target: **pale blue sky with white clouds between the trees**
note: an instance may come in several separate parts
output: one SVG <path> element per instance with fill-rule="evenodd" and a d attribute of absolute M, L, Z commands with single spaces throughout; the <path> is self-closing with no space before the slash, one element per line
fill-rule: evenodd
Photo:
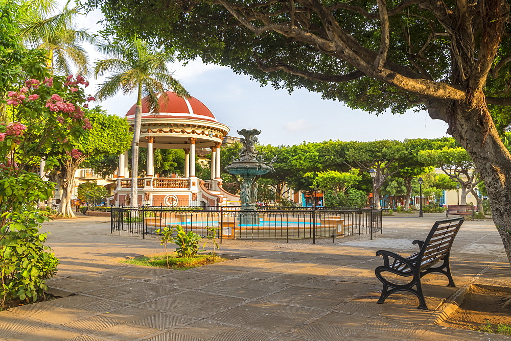
<path fill-rule="evenodd" d="M 101 29 L 97 22 L 102 18 L 101 12 L 96 10 L 79 16 L 77 26 L 97 32 Z M 93 46 L 86 46 L 86 50 L 91 61 L 102 58 Z M 237 75 L 228 67 L 204 64 L 200 60 L 191 61 L 186 66 L 174 63 L 170 69 L 192 96 L 230 128 L 229 136 L 238 136 L 236 131 L 243 128 L 257 128 L 262 131 L 259 136 L 262 144 L 447 136 L 444 121 L 431 119 L 426 111 L 410 111 L 404 115 L 387 112 L 376 116 L 350 109 L 338 101 L 324 101 L 319 93 L 305 89 L 289 95 L 287 90 L 261 87 L 258 82 Z M 87 94 L 94 94 L 103 80 L 90 77 L 88 80 Z M 135 102 L 135 94 L 125 96 L 119 93 L 99 105 L 111 114 L 124 116 Z"/>

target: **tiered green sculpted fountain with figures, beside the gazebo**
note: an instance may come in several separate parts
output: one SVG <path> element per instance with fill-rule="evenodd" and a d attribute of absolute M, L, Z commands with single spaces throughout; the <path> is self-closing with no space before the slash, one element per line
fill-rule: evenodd
<path fill-rule="evenodd" d="M 269 164 L 263 159 L 263 155 L 255 149 L 255 143 L 258 141 L 258 135 L 261 134 L 260 130 L 238 130 L 238 134 L 243 136 L 240 142 L 243 144 L 239 155 L 239 159 L 233 158 L 233 162 L 225 167 L 225 170 L 230 174 L 239 175 L 243 178 L 241 184 L 241 210 L 245 214 L 240 214 L 240 224 L 254 225 L 259 223 L 259 218 L 256 211 L 257 203 L 257 188 L 256 177 L 274 172 L 273 162 L 276 157 L 271 160 Z M 243 212 L 242 212 L 243 213 Z"/>

